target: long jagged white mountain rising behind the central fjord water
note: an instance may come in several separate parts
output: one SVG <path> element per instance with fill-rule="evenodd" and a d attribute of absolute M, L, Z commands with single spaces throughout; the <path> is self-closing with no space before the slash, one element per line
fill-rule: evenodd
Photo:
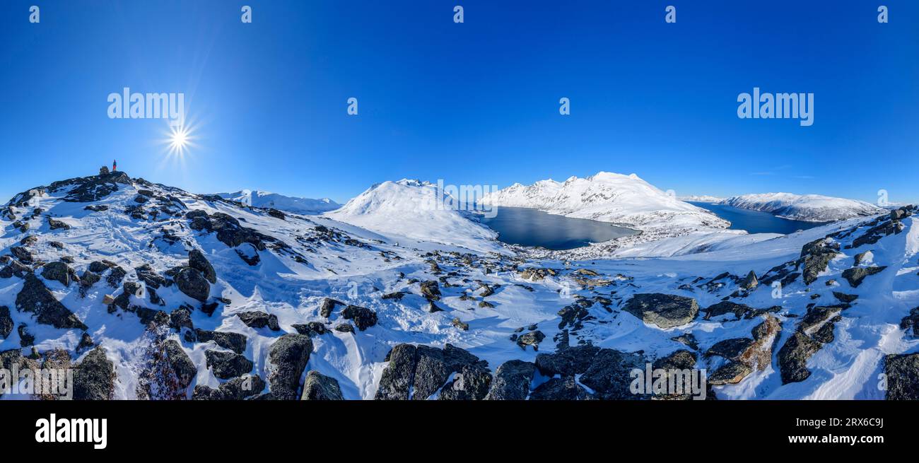
<path fill-rule="evenodd" d="M 540 209 L 550 214 L 624 224 L 641 231 L 666 230 L 675 235 L 730 226 L 708 210 L 668 195 L 635 174 L 600 172 L 587 178 L 573 176 L 564 182 L 514 184 L 485 195 L 482 203 Z"/>

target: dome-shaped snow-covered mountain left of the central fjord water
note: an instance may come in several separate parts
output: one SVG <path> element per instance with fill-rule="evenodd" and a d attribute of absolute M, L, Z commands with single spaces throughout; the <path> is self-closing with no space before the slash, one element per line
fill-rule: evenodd
<path fill-rule="evenodd" d="M 371 231 L 413 240 L 455 244 L 478 251 L 495 251 L 498 234 L 480 224 L 474 214 L 450 207 L 452 198 L 437 185 L 402 179 L 370 186 L 341 209 L 325 214 Z"/>

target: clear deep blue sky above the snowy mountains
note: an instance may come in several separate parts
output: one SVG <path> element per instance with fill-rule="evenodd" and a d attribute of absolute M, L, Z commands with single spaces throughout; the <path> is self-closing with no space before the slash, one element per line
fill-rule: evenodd
<path fill-rule="evenodd" d="M 601 170 L 679 195 L 919 200 L 914 1 L 6 0 L 0 36 L 4 200 L 113 158 L 195 192 L 337 201 Z M 125 86 L 185 93 L 195 147 L 167 157 L 163 120 L 108 119 Z M 813 93 L 813 125 L 738 119 L 754 86 Z"/>

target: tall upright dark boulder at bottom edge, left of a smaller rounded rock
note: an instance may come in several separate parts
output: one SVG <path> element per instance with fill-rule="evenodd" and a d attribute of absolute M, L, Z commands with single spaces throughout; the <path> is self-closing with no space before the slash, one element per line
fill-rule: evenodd
<path fill-rule="evenodd" d="M 303 334 L 285 334 L 271 345 L 268 354 L 270 374 L 268 384 L 274 398 L 283 401 L 298 399 L 300 377 L 312 353 L 310 336 Z"/>

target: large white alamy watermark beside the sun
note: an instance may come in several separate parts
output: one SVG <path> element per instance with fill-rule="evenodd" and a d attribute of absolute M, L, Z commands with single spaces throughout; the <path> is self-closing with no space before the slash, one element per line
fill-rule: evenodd
<path fill-rule="evenodd" d="M 131 93 L 124 87 L 121 93 L 108 94 L 108 119 L 169 119 L 169 125 L 185 125 L 184 93 Z"/>

